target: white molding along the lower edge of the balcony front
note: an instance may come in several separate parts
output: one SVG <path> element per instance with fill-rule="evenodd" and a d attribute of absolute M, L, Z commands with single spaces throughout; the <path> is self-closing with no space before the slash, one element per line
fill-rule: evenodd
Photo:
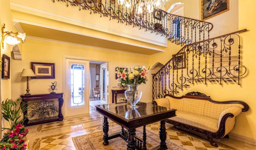
<path fill-rule="evenodd" d="M 89 34 L 84 34 L 84 33 L 76 32 L 76 31 L 65 30 L 65 29 L 62 29 L 62 28 L 46 26 L 46 25 L 43 25 L 43 24 L 32 23 L 32 22 L 29 22 L 29 21 L 18 20 L 18 19 L 13 19 L 12 21 L 14 22 L 14 24 L 25 23 L 25 24 L 30 24 L 30 25 L 34 25 L 34 26 L 50 28 L 50 29 L 59 30 L 59 31 L 65 31 L 65 32 L 69 32 L 69 33 L 74 33 L 74 34 L 79 34 L 79 35 L 83 35 L 83 36 L 94 37 L 94 38 L 103 39 L 103 40 L 109 40 L 109 41 L 112 41 L 112 42 L 123 43 L 123 44 L 127 44 L 127 45 L 132 45 L 132 46 L 137 46 L 137 47 L 142 47 L 142 48 L 147 48 L 147 49 L 152 49 L 152 50 L 155 50 L 155 51 L 163 52 L 162 49 L 158 49 L 158 48 L 152 48 L 152 47 L 138 45 L 138 44 L 133 44 L 133 43 L 128 43 L 128 42 L 120 42 L 118 40 L 112 40 L 112 39 L 107 39 L 107 38 L 103 38 L 103 37 L 99 37 L 99 36 L 93 36 L 93 35 L 89 35 Z M 116 51 L 119 51 L 119 50 L 116 50 Z M 135 53 L 135 54 L 139 54 L 139 53 Z"/>

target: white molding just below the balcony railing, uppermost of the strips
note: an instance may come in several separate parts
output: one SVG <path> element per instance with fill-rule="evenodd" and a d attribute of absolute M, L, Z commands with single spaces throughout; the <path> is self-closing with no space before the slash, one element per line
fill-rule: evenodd
<path fill-rule="evenodd" d="M 84 22 L 84 21 L 75 20 L 73 18 L 65 17 L 65 16 L 62 16 L 62 15 L 57 15 L 55 13 L 46 12 L 44 10 L 35 9 L 35 8 L 32 8 L 32 7 L 20 5 L 20 4 L 13 3 L 13 2 L 11 2 L 10 4 L 11 4 L 11 6 L 16 6 L 16 7 L 32 10 L 32 11 L 39 12 L 39 13 L 44 13 L 46 15 L 50 15 L 50 16 L 53 16 L 53 17 L 58 17 L 58 18 L 69 20 L 69 21 L 74 21 L 76 23 L 85 24 L 87 26 L 91 26 L 91 27 L 95 27 L 95 28 L 99 28 L 99 29 L 103 29 L 103 30 L 107 30 L 107 31 L 112 31 L 112 32 L 115 32 L 115 33 L 118 33 L 118 34 L 123 34 L 123 35 L 126 35 L 126 36 L 130 36 L 130 37 L 132 37 L 132 39 L 135 37 L 135 38 L 141 39 L 144 42 L 148 42 L 148 43 L 152 43 L 152 44 L 156 44 L 156 45 L 167 47 L 167 43 L 159 42 L 159 41 L 156 41 L 156 40 L 148 39 L 148 38 L 137 36 L 137 35 L 130 34 L 130 33 L 125 33 L 125 32 L 114 30 L 114 29 L 107 28 L 107 27 L 98 26 L 96 24 L 91 24 L 91 23 L 87 23 L 87 22 Z"/>

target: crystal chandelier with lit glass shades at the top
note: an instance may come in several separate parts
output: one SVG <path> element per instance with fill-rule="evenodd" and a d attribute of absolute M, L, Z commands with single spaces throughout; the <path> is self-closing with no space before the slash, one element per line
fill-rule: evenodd
<path fill-rule="evenodd" d="M 124 8 L 130 9 L 132 5 L 135 6 L 137 14 L 143 13 L 144 6 L 148 13 L 153 12 L 154 9 L 160 9 L 161 7 L 161 0 L 118 0 L 117 2 L 118 5 L 122 5 Z"/>

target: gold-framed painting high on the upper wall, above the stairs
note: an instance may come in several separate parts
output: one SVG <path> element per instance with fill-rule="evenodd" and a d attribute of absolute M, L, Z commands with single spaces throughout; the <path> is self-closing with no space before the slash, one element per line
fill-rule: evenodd
<path fill-rule="evenodd" d="M 229 10 L 229 0 L 201 0 L 202 20 L 207 20 Z"/>

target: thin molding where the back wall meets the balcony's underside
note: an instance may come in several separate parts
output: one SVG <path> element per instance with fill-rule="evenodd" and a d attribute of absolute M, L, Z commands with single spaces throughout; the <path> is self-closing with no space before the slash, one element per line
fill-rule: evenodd
<path fill-rule="evenodd" d="M 95 48 L 95 49 L 101 49 L 101 50 L 105 50 L 105 51 L 121 52 L 121 53 L 126 53 L 126 54 L 133 54 L 133 55 L 142 55 L 142 56 L 146 56 L 146 57 L 150 57 L 152 55 L 155 55 L 155 54 L 146 55 L 146 54 L 140 54 L 140 53 L 136 53 L 136 52 L 120 51 L 120 50 L 117 50 L 117 49 L 110 49 L 110 48 L 104 48 L 104 47 L 98 47 L 98 46 L 91 46 L 91 45 L 83 45 L 83 44 L 78 44 L 78 43 L 64 42 L 64 41 L 61 41 L 61 40 L 46 39 L 46 38 L 43 38 L 43 37 L 36 37 L 36 36 L 26 36 L 26 38 L 27 39 L 34 39 L 34 40 L 42 40 L 42 41 L 46 41 L 46 42 L 54 42 L 54 43 L 73 45 L 73 46 Z M 162 52 L 160 52 L 160 53 L 162 53 Z"/>

